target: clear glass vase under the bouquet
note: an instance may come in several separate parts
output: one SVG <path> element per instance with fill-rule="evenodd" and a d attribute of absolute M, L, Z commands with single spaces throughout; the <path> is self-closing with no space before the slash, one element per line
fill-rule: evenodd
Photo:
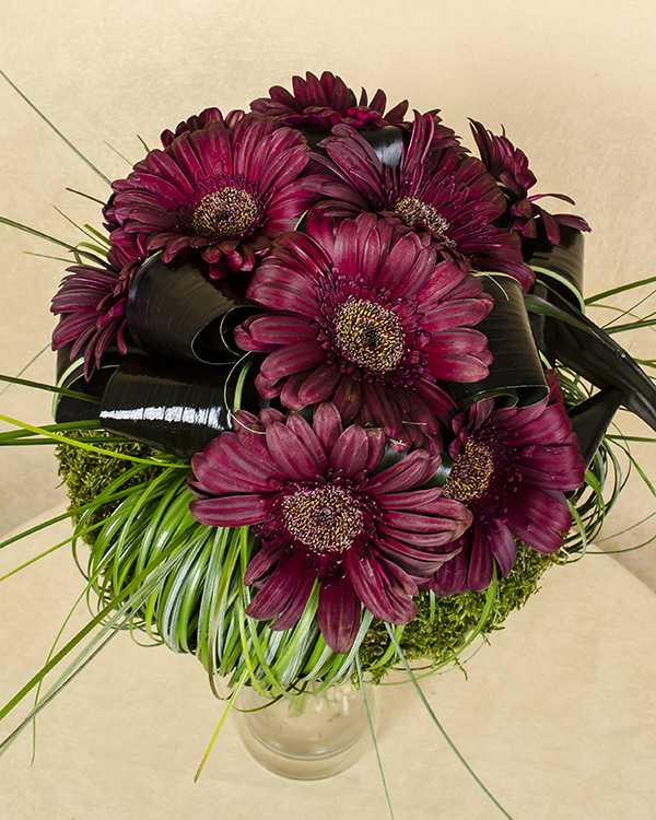
<path fill-rule="evenodd" d="M 238 729 L 248 752 L 271 772 L 294 780 L 331 777 L 373 745 L 362 692 L 350 682 L 278 701 L 245 687 L 236 701 Z M 374 721 L 373 687 L 366 702 Z"/>

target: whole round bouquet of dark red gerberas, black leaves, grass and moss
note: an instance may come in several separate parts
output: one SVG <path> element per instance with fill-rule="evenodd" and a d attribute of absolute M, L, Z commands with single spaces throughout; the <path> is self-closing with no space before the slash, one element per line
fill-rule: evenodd
<path fill-rule="evenodd" d="M 229 704 L 415 682 L 585 552 L 623 485 L 608 427 L 656 430 L 656 390 L 585 314 L 612 294 L 543 204 L 572 200 L 471 139 L 308 73 L 112 183 L 51 303 L 55 424 L 2 434 L 57 444 L 93 641 L 194 654 Z"/>

